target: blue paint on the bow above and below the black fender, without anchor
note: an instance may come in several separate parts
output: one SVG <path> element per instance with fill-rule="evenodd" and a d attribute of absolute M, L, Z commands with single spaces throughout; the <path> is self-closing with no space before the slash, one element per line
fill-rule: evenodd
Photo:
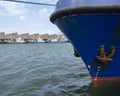
<path fill-rule="evenodd" d="M 120 0 L 59 0 L 56 11 L 111 4 L 118 5 Z M 98 77 L 120 77 L 120 14 L 73 14 L 57 18 L 54 23 L 77 49 L 92 77 L 96 77 L 98 71 L 93 63 L 98 48 L 104 45 L 108 53 L 111 46 L 116 46 L 113 61 L 99 69 Z"/>

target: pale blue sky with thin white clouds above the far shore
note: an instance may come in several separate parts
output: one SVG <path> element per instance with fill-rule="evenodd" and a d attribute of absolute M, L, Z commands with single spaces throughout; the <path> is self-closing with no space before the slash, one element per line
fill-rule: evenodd
<path fill-rule="evenodd" d="M 23 1 L 23 0 L 22 0 Z M 58 0 L 24 0 L 56 4 Z M 21 4 L 0 0 L 0 32 L 6 34 L 59 34 L 60 30 L 50 22 L 54 6 Z"/>

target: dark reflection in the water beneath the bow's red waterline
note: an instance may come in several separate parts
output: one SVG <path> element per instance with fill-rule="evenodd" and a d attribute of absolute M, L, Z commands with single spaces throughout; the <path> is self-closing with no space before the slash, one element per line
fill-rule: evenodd
<path fill-rule="evenodd" d="M 120 82 L 90 83 L 75 90 L 79 96 L 120 96 Z"/>

